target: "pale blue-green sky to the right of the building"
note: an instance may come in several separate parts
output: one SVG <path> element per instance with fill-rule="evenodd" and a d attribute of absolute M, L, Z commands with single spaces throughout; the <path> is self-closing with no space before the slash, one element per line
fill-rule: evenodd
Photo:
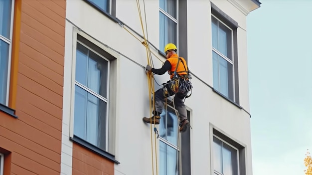
<path fill-rule="evenodd" d="M 247 17 L 253 175 L 305 175 L 312 150 L 312 0 Z"/>

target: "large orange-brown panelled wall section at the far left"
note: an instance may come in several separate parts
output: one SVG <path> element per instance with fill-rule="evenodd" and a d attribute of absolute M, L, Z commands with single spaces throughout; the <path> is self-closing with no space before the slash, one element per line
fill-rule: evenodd
<path fill-rule="evenodd" d="M 18 118 L 0 111 L 4 175 L 60 175 L 66 0 L 15 3 L 9 105 Z"/>

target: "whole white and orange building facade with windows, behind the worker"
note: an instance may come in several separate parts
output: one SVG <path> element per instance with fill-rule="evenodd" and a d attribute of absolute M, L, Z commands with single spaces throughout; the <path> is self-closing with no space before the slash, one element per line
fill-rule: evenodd
<path fill-rule="evenodd" d="M 246 16 L 258 7 L 0 0 L 0 175 L 252 175 Z M 156 130 L 142 121 L 145 66 L 161 67 L 168 42 L 194 87 L 182 134 L 172 98 Z M 169 79 L 154 77 L 152 91 Z"/>

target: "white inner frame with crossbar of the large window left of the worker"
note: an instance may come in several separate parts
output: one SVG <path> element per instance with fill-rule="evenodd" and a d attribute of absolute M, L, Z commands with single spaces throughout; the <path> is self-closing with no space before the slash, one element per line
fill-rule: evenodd
<path fill-rule="evenodd" d="M 94 95 L 96 98 L 98 98 L 99 100 L 102 100 L 104 102 L 106 102 L 107 106 L 106 106 L 106 118 L 105 118 L 105 149 L 104 151 L 108 151 L 108 127 L 109 127 L 109 96 L 110 96 L 110 60 L 105 58 L 105 56 L 103 56 L 102 54 L 98 53 L 97 51 L 95 51 L 94 49 L 92 49 L 91 47 L 89 47 L 88 45 L 84 44 L 82 41 L 78 40 L 76 41 L 77 43 L 81 44 L 82 46 L 86 47 L 89 51 L 94 52 L 95 54 L 97 54 L 98 56 L 100 56 L 102 59 L 106 60 L 107 63 L 107 97 L 103 97 L 100 94 L 94 92 L 93 90 L 89 89 L 88 87 L 86 87 L 85 85 L 79 83 L 76 79 L 75 79 L 75 86 L 78 86 L 80 88 L 82 88 L 83 90 L 85 90 L 87 93 L 90 93 L 91 95 Z M 76 43 L 76 45 L 77 45 Z M 76 51 L 77 51 L 77 46 L 75 47 Z M 89 56 L 88 56 L 89 58 Z M 76 56 L 75 56 L 75 63 L 76 63 Z M 76 66 L 76 64 L 75 64 Z M 76 74 L 75 74 L 76 77 Z M 75 90 L 74 90 L 75 91 Z M 75 97 L 74 97 L 74 101 L 75 101 Z M 75 103 L 75 102 L 74 102 Z M 75 104 L 73 105 L 75 106 Z M 73 126 L 75 127 L 75 126 Z M 75 135 L 75 134 L 74 134 Z M 76 136 L 78 137 L 78 136 Z M 82 138 L 81 138 L 82 139 Z M 84 139 L 82 139 L 84 140 Z M 86 141 L 87 142 L 87 141 Z"/>

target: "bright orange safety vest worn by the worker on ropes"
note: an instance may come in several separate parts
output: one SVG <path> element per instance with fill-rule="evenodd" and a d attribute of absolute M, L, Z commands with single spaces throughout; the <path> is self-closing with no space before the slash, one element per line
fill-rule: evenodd
<path fill-rule="evenodd" d="M 179 58 L 180 58 L 180 61 L 178 61 Z M 188 68 L 187 68 L 186 61 L 184 58 L 178 57 L 177 54 L 173 54 L 167 60 L 171 64 L 171 69 L 168 71 L 168 73 L 170 74 L 170 79 L 173 78 L 175 69 L 176 69 L 176 75 L 177 76 L 187 75 Z M 183 66 L 183 64 L 184 64 L 184 66 Z M 178 66 L 178 67 L 176 68 L 176 66 Z"/>

